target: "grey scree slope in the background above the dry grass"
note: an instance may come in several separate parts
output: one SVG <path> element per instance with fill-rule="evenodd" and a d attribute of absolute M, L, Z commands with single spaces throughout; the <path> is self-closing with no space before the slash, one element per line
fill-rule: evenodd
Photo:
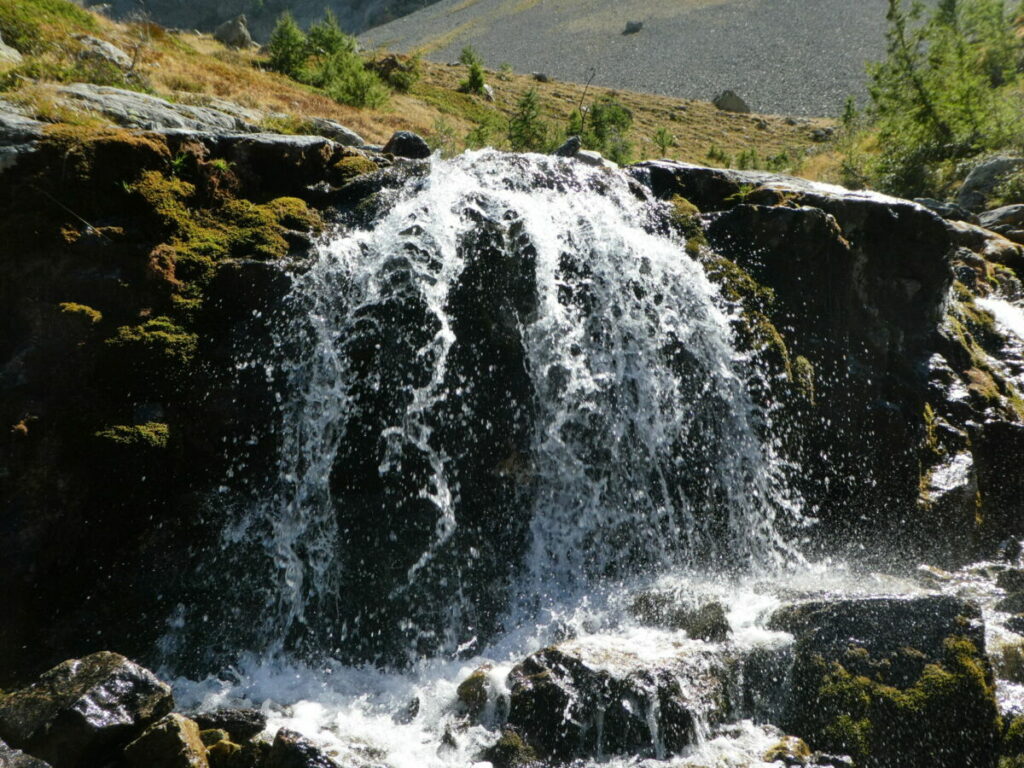
<path fill-rule="evenodd" d="M 886 0 L 441 0 L 365 33 L 367 47 L 497 67 L 756 112 L 835 115 L 885 53 Z M 643 29 L 625 35 L 627 22 Z"/>

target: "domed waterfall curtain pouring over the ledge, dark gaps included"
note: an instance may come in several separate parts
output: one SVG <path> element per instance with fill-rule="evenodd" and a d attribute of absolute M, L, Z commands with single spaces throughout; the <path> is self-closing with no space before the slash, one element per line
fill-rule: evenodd
<path fill-rule="evenodd" d="M 664 204 L 494 152 L 378 198 L 295 276 L 260 362 L 284 382 L 281 473 L 225 534 L 258 543 L 264 599 L 236 633 L 243 695 L 281 696 L 288 659 L 330 664 L 365 720 L 425 699 L 425 678 L 451 698 L 459 658 L 497 676 L 559 627 L 613 623 L 624 584 L 799 559 L 761 374 Z M 413 667 L 339 688 L 332 658 Z"/>

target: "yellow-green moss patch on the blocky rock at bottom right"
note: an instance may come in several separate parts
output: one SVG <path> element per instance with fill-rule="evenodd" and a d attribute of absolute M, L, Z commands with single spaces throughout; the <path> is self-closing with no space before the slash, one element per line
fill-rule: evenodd
<path fill-rule="evenodd" d="M 993 755 L 1000 730 L 995 688 L 966 638 L 946 638 L 939 663 L 909 651 L 895 660 L 860 651 L 843 664 L 818 662 L 815 703 L 799 724 L 815 749 L 869 768 L 985 765 Z"/>

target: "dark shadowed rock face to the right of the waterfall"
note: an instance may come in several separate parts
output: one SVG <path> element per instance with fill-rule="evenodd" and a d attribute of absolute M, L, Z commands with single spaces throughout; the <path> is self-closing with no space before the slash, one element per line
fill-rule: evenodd
<path fill-rule="evenodd" d="M 748 284 L 729 295 L 777 332 L 748 323 L 755 345 L 812 385 L 793 403 L 785 439 L 809 480 L 805 501 L 821 511 L 824 547 L 847 539 L 873 549 L 896 537 L 965 562 L 1011 535 L 1017 504 L 996 484 L 972 490 L 982 449 L 969 430 L 1021 419 L 1013 377 L 991 361 L 1009 341 L 972 293 L 990 290 L 991 262 L 1024 264 L 1014 244 L 908 201 L 766 173 L 663 162 L 633 172 L 706 212 L 701 231 L 727 262 L 710 256 L 710 270 L 727 290 L 732 273 L 770 292 L 752 299 Z M 998 274 L 1012 292 L 1014 273 Z M 970 463 L 957 464 L 965 451 Z M 943 499 L 930 495 L 933 481 Z M 934 536 L 941 526 L 958 532 Z"/>

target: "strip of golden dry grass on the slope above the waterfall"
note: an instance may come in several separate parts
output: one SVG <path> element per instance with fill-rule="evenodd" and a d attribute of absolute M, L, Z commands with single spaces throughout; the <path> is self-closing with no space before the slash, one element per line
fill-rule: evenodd
<path fill-rule="evenodd" d="M 4 1 L 11 2 L 0 0 Z M 453 148 L 458 150 L 469 131 L 484 124 L 490 128 L 492 140 L 500 145 L 516 102 L 528 89 L 536 88 L 544 119 L 556 133 L 564 131 L 569 114 L 581 100 L 589 103 L 604 95 L 620 100 L 634 115 L 632 139 L 638 159 L 659 154 L 652 137 L 665 128 L 677 142 L 668 152 L 673 159 L 707 163 L 713 148 L 732 157 L 756 150 L 760 158 L 784 153 L 794 161 L 793 170 L 812 177 L 834 175 L 838 168 L 836 157 L 821 153 L 823 147 L 811 139 L 811 131 L 828 121 L 734 115 L 703 101 L 599 87 L 589 88 L 585 95 L 580 84 L 539 83 L 528 75 L 499 76 L 494 71 L 487 72 L 487 82 L 495 90 L 495 101 L 487 102 L 458 92 L 459 83 L 466 77 L 464 67 L 431 61 L 422 62 L 423 78 L 412 92 L 395 93 L 384 110 L 362 110 L 337 103 L 315 89 L 264 71 L 257 51 L 227 50 L 208 35 L 177 34 L 153 24 L 120 24 L 96 14 L 90 16 L 93 34 L 135 55 L 138 73 L 157 95 L 189 102 L 223 98 L 264 115 L 324 117 L 350 127 L 372 143 L 382 143 L 395 130 L 404 129 L 428 137 L 444 132 L 454 137 Z M 65 19 L 60 20 L 61 34 L 70 32 L 63 29 Z M 46 55 L 70 53 L 57 50 Z M 32 84 L 18 86 L 13 95 L 20 93 L 25 102 L 34 103 L 37 114 L 50 121 L 93 119 L 62 114 L 56 104 L 43 98 L 44 92 Z"/>

